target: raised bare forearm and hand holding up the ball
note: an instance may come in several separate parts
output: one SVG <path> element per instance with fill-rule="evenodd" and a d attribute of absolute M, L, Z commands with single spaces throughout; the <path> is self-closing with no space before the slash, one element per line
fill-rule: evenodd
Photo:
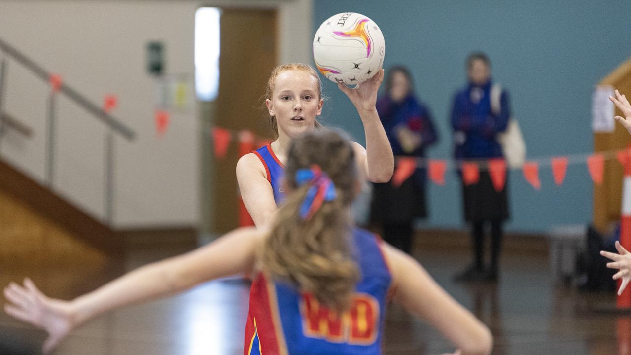
<path fill-rule="evenodd" d="M 349 88 L 339 83 L 339 90 L 353 102 L 362 119 L 364 134 L 366 135 L 365 153 L 358 155 L 357 159 L 365 172 L 365 176 L 373 183 L 387 183 L 394 172 L 394 155 L 390 141 L 384 130 L 384 126 L 377 114 L 377 90 L 384 80 L 384 69 L 380 69 L 369 80 L 358 84 L 355 88 Z M 355 150 L 360 153 L 360 150 Z"/>

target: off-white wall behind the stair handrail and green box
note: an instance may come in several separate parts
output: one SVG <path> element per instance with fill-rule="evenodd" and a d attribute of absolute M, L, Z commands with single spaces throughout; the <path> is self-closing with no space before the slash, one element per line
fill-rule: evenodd
<path fill-rule="evenodd" d="M 0 39 L 100 104 L 119 96 L 113 112 L 136 131 L 116 138 L 114 226 L 197 226 L 199 223 L 199 119 L 196 105 L 171 112 L 156 137 L 155 78 L 146 72 L 146 45 L 165 47 L 165 73 L 191 78 L 194 97 L 194 13 L 199 6 L 277 8 L 281 62 L 310 61 L 311 0 L 78 1 L 0 0 Z M 3 54 L 0 52 L 0 56 Z M 34 130 L 13 133 L 0 155 L 38 181 L 45 176 L 47 83 L 9 59 L 4 110 Z M 194 101 L 194 100 L 193 100 Z M 71 202 L 103 218 L 104 124 L 68 99 L 57 100 L 54 186 Z"/>

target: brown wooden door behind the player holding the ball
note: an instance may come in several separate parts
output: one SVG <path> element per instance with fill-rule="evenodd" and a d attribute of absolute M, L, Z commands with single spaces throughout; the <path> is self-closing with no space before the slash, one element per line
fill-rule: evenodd
<path fill-rule="evenodd" d="M 249 129 L 257 136 L 271 136 L 260 99 L 275 65 L 276 11 L 223 9 L 215 126 L 233 131 Z M 212 229 L 215 232 L 230 231 L 239 221 L 236 139 L 233 137 L 227 156 L 214 164 Z"/>

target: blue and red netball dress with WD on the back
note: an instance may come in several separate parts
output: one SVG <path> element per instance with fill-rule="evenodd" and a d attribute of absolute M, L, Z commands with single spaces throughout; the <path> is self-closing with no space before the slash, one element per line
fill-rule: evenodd
<path fill-rule="evenodd" d="M 392 276 L 380 239 L 353 230 L 362 279 L 343 315 L 265 272 L 254 278 L 245 326 L 245 355 L 378 355 Z"/>

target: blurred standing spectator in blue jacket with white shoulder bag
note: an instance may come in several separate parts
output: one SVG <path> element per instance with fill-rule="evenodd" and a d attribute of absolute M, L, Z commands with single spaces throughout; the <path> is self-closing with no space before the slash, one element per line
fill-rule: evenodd
<path fill-rule="evenodd" d="M 486 160 L 503 158 L 498 133 L 505 131 L 510 116 L 508 93 L 500 95 L 500 110 L 492 110 L 491 63 L 483 53 L 473 53 L 466 61 L 469 83 L 456 93 L 451 111 L 454 129 L 454 155 L 457 160 Z M 462 177 L 462 174 L 461 174 Z M 506 181 L 508 183 L 508 181 Z M 497 281 L 498 263 L 502 248 L 502 223 L 509 219 L 507 184 L 496 191 L 486 169 L 481 169 L 480 179 L 466 186 L 463 181 L 464 219 L 471 224 L 474 261 L 459 281 Z M 490 263 L 484 262 L 485 224 L 491 227 Z"/>

